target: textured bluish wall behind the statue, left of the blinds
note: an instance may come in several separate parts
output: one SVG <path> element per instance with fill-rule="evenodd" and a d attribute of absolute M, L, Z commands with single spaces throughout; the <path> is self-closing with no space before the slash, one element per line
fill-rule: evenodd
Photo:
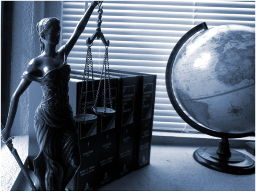
<path fill-rule="evenodd" d="M 10 95 L 19 85 L 21 75 L 30 60 L 41 54 L 36 24 L 45 17 L 57 17 L 62 20 L 62 1 L 14 1 Z M 33 87 L 37 87 L 37 90 Z M 37 101 L 40 102 L 41 91 L 38 87 L 33 82 L 20 97 L 12 135 L 28 133 L 28 129 L 33 130 L 35 110 L 30 111 L 29 106 L 36 99 L 34 93 L 37 94 Z"/>

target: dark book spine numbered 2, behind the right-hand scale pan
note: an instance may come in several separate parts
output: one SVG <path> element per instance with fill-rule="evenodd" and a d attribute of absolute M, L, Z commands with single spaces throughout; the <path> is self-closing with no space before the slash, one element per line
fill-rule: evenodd
<path fill-rule="evenodd" d="M 111 100 L 113 109 L 116 110 L 117 78 L 110 79 Z M 107 83 L 108 85 L 108 83 Z M 101 84 L 99 107 L 103 107 L 103 82 Z M 106 107 L 110 108 L 109 89 L 106 89 Z M 116 166 L 116 114 L 110 116 L 98 115 L 98 174 L 97 188 L 114 180 Z"/>

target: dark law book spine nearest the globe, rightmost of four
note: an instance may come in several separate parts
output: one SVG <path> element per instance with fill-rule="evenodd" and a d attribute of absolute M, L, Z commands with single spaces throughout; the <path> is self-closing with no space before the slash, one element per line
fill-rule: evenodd
<path fill-rule="evenodd" d="M 154 103 L 156 96 L 156 75 L 139 76 L 140 91 L 136 114 L 135 168 L 150 164 L 151 137 L 153 128 Z"/>

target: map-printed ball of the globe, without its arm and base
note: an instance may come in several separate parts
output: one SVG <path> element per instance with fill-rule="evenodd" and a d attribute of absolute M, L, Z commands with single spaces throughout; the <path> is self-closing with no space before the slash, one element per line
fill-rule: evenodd
<path fill-rule="evenodd" d="M 172 86 L 183 111 L 204 127 L 255 131 L 255 29 L 223 25 L 193 35 L 176 55 Z"/>

